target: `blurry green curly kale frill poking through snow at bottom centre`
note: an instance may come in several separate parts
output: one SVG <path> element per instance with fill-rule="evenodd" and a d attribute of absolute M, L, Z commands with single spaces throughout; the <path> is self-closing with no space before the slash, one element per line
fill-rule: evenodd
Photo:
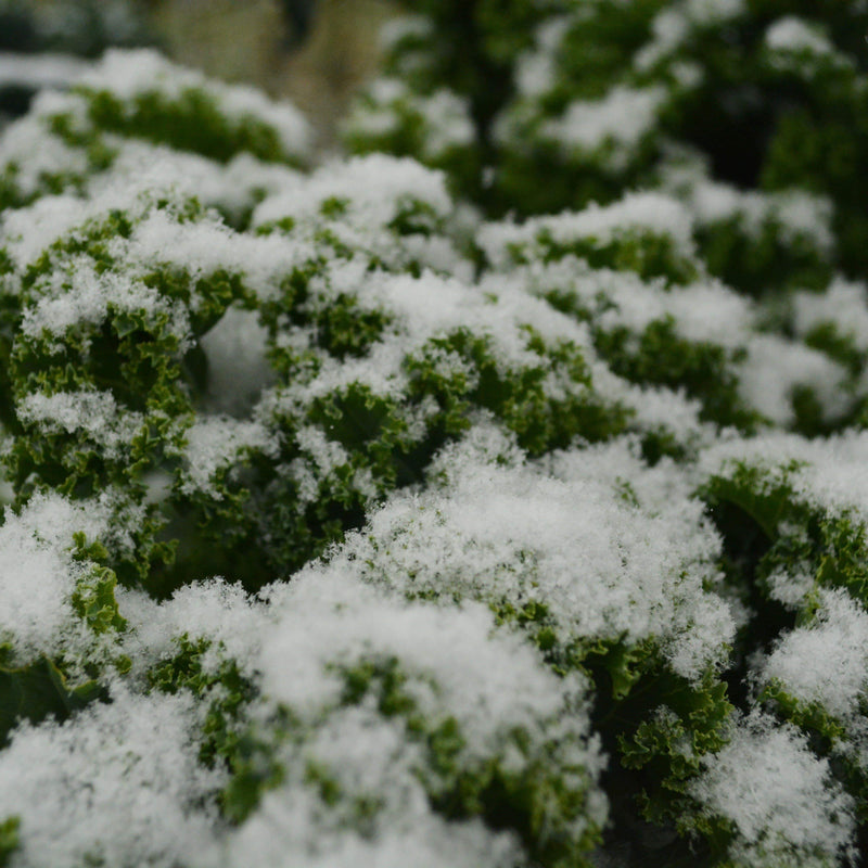
<path fill-rule="evenodd" d="M 324 710 L 340 714 L 354 706 L 365 707 L 383 720 L 395 720 L 410 744 L 419 749 L 414 774 L 427 792 L 431 807 L 449 820 L 480 818 L 492 829 L 512 829 L 532 857 L 552 866 L 586 865 L 584 854 L 597 840 L 588 829 L 579 840 L 567 833 L 571 820 L 585 808 L 587 793 L 579 768 L 552 768 L 545 751 L 538 754 L 527 732 L 516 729 L 506 736 L 500 752 L 488 758 L 469 762 L 461 725 L 455 717 L 431 719 L 423 714 L 408 685 L 398 660 L 371 658 L 353 664 L 333 664 L 343 682 L 337 707 Z M 432 685 L 436 690 L 436 685 Z M 306 728 L 292 709 L 281 707 L 272 722 L 278 745 L 257 744 L 254 733 L 242 739 L 245 756 L 237 766 L 224 800 L 229 816 L 243 819 L 269 789 L 279 786 L 286 770 L 275 755 L 294 756 L 303 749 Z M 277 748 L 277 750 L 276 750 Z M 558 746 L 552 743 L 552 751 Z M 518 752 L 525 761 L 509 766 L 503 753 Z M 528 755 L 535 751 L 533 755 Z M 340 809 L 346 821 L 365 835 L 373 834 L 381 805 L 368 796 L 344 792 L 328 768 L 306 761 L 305 784 L 314 789 L 324 805 Z"/>

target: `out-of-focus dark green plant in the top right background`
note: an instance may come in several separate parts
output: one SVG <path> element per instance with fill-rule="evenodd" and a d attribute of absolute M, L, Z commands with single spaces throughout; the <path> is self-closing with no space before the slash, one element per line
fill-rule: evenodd
<path fill-rule="evenodd" d="M 868 16 L 858 4 L 752 2 L 743 11 L 716 13 L 661 0 L 593 0 L 500 4 L 496 16 L 484 2 L 461 4 L 460 11 L 452 4 L 407 5 L 426 16 L 426 24 L 391 48 L 387 72 L 408 88 L 396 106 L 443 87 L 470 99 L 483 153 L 480 168 L 487 175 L 475 183 L 462 177 L 455 187 L 490 215 L 611 202 L 628 190 L 666 182 L 667 169 L 693 154 L 713 180 L 739 190 L 801 188 L 828 196 L 840 263 L 852 275 L 866 273 L 859 203 L 866 197 L 860 167 L 868 154 L 863 105 L 868 67 L 854 35 L 868 29 Z M 666 15 L 671 20 L 658 28 Z M 799 16 L 828 39 L 831 53 L 786 43 L 769 48 L 767 33 L 788 16 Z M 489 30 L 495 20 L 497 29 Z M 684 36 L 655 42 L 658 30 L 678 28 Z M 524 92 L 516 90 L 516 78 L 528 51 L 550 73 Z M 611 137 L 592 148 L 559 139 L 553 129 L 571 106 L 602 105 L 618 89 L 660 95 L 649 128 L 626 150 Z M 397 107 L 393 114 L 393 132 L 381 139 L 355 141 L 352 126 L 354 146 L 394 149 L 430 162 L 419 122 L 413 125 Z M 745 232 L 739 219 L 704 224 L 697 239 L 712 273 L 746 293 L 765 295 L 784 284 L 821 286 L 839 261 L 834 251 L 817 248 L 812 238 L 793 235 L 775 218 L 758 234 Z"/>

